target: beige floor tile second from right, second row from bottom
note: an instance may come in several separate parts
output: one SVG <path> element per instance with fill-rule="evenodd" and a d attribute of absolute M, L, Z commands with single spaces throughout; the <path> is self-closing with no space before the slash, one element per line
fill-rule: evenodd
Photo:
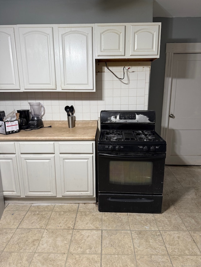
<path fill-rule="evenodd" d="M 187 231 L 161 231 L 169 255 L 200 255 L 193 238 Z"/>

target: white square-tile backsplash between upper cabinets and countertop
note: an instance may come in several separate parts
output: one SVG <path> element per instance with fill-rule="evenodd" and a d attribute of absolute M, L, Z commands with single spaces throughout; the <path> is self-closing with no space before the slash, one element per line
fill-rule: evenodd
<path fill-rule="evenodd" d="M 76 120 L 98 120 L 101 110 L 147 110 L 150 62 L 96 63 L 96 92 L 0 92 L 0 110 L 30 109 L 28 102 L 41 102 L 43 120 L 67 120 L 66 105 L 74 106 Z"/>

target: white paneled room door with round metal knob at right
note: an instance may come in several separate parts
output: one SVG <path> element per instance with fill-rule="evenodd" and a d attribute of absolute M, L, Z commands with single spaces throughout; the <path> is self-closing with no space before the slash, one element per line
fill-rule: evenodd
<path fill-rule="evenodd" d="M 173 54 L 166 164 L 201 165 L 201 54 Z"/>

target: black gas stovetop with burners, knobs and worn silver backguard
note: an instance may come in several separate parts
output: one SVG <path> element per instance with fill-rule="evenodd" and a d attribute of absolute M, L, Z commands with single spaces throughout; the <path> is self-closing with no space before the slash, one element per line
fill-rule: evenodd
<path fill-rule="evenodd" d="M 98 151 L 165 152 L 155 111 L 101 111 Z"/>

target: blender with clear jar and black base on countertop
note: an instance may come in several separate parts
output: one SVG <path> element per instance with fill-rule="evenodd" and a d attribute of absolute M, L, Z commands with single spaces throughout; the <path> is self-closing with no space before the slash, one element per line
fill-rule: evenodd
<path fill-rule="evenodd" d="M 29 105 L 31 110 L 29 129 L 40 129 L 41 127 L 43 127 L 41 114 L 44 110 L 44 106 L 40 102 L 29 102 Z"/>

